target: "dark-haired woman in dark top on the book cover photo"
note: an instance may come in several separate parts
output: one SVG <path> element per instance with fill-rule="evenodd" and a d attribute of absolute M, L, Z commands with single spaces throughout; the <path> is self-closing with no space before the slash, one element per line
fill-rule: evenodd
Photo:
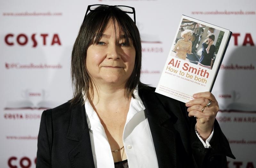
<path fill-rule="evenodd" d="M 202 55 L 197 65 L 212 69 L 211 63 L 215 52 L 215 45 L 213 45 L 214 40 L 215 36 L 212 33 L 206 37 L 206 40 L 202 44 Z"/>

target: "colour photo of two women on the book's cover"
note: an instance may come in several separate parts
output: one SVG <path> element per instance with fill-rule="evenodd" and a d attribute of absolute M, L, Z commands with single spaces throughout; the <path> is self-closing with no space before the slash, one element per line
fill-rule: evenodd
<path fill-rule="evenodd" d="M 170 55 L 212 69 L 223 35 L 224 31 L 183 19 Z"/>

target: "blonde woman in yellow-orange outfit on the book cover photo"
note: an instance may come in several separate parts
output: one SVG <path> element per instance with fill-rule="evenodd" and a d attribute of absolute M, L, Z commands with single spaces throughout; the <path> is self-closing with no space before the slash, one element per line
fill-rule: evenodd
<path fill-rule="evenodd" d="M 192 37 L 192 30 L 184 30 L 181 32 L 181 37 L 183 39 L 180 39 L 175 44 L 173 51 L 177 52 L 176 56 L 182 60 L 186 60 L 187 53 L 191 54 L 192 50 L 192 42 L 189 41 Z"/>

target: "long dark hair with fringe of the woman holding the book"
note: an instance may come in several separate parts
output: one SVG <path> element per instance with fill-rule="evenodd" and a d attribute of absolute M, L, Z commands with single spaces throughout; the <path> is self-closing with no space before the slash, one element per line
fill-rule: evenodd
<path fill-rule="evenodd" d="M 83 104 L 83 97 L 90 96 L 89 89 L 92 91 L 93 81 L 86 68 L 87 49 L 91 44 L 98 42 L 110 20 L 113 20 L 115 31 L 116 26 L 118 26 L 120 31 L 124 33 L 126 43 L 129 43 L 129 39 L 132 40 L 136 51 L 134 69 L 125 85 L 124 96 L 134 97 L 133 91 L 140 83 L 141 41 L 139 30 L 125 12 L 118 8 L 104 9 L 106 7 L 100 6 L 97 10 L 89 12 L 77 35 L 71 58 L 71 78 L 74 92 L 73 99 L 70 100 L 72 104 Z M 94 94 L 93 91 L 92 94 Z"/>

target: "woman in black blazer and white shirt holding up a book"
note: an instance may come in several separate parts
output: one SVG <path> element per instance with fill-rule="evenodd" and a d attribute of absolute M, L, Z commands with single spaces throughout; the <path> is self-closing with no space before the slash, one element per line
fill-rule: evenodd
<path fill-rule="evenodd" d="M 214 96 L 197 93 L 186 108 L 141 84 L 135 16 L 92 7 L 72 52 L 74 97 L 43 112 L 36 167 L 225 167 L 234 156 Z"/>

